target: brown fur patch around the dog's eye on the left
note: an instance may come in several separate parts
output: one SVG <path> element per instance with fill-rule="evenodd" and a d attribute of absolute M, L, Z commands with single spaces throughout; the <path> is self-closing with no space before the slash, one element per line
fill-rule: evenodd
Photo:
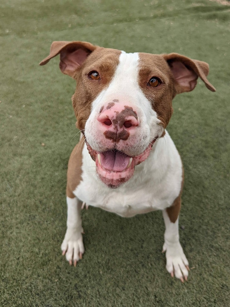
<path fill-rule="evenodd" d="M 74 78 L 77 81 L 77 87 L 72 96 L 72 103 L 78 120 L 77 126 L 80 130 L 85 128 L 92 102 L 111 82 L 119 63 L 120 54 L 119 50 L 98 47 L 76 70 Z M 101 76 L 99 80 L 89 78 L 89 73 L 93 70 Z"/>

